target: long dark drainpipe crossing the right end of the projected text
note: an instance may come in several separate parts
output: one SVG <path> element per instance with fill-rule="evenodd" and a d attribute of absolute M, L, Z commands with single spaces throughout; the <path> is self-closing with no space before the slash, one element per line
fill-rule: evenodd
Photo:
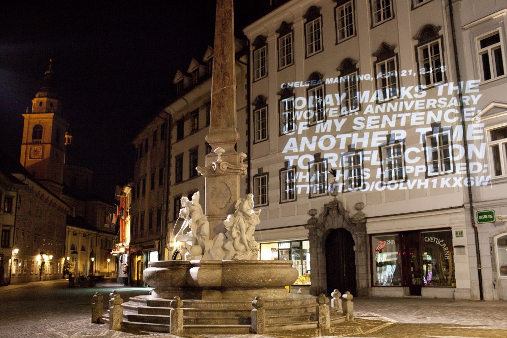
<path fill-rule="evenodd" d="M 449 17 L 451 20 L 451 32 L 452 32 L 452 47 L 454 49 L 454 63 L 456 64 L 456 80 L 458 82 L 458 96 L 459 96 L 459 109 L 461 114 L 461 127 L 463 128 L 463 147 L 465 149 L 465 164 L 466 164 L 466 177 L 470 181 L 470 159 L 468 158 L 468 140 L 466 138 L 466 124 L 465 124 L 465 113 L 463 109 L 463 95 L 461 92 L 461 76 L 459 72 L 459 60 L 457 54 L 456 44 L 456 31 L 454 29 L 454 13 L 452 10 L 452 0 L 448 0 L 449 4 Z M 474 228 L 475 247 L 477 256 L 477 275 L 479 277 L 479 297 L 484 300 L 484 292 L 482 285 L 482 266 L 481 266 L 481 248 L 479 247 L 479 232 L 474 217 L 474 200 L 472 197 L 472 186 L 468 184 L 468 202 L 470 203 L 470 222 L 472 222 L 472 228 Z"/>

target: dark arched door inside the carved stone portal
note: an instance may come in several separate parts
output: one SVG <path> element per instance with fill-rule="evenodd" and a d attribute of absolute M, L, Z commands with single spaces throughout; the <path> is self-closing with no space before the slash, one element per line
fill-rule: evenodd
<path fill-rule="evenodd" d="M 328 294 L 334 289 L 356 295 L 354 239 L 345 229 L 332 230 L 325 240 Z"/>

